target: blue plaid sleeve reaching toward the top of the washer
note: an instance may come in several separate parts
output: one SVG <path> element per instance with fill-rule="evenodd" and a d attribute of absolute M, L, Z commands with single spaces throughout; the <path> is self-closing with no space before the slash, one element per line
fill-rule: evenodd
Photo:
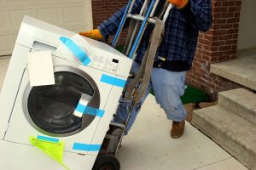
<path fill-rule="evenodd" d="M 143 7 L 143 0 L 136 0 L 134 6 L 131 10 L 131 14 L 139 14 L 141 8 Z M 125 7 L 120 8 L 119 11 L 113 14 L 108 20 L 105 20 L 100 26 L 97 27 L 101 31 L 102 36 L 105 40 L 108 40 L 110 35 L 113 35 L 119 28 L 119 24 L 122 20 L 123 15 L 125 14 Z M 128 26 L 126 21 L 125 27 Z"/>

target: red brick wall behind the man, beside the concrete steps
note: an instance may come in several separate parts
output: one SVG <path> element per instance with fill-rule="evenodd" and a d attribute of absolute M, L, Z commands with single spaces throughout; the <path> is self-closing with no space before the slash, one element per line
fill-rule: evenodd
<path fill-rule="evenodd" d="M 210 65 L 236 59 L 241 0 L 212 0 L 212 27 L 200 33 L 195 61 L 187 82 L 214 98 L 217 92 L 240 87 L 210 72 Z"/>

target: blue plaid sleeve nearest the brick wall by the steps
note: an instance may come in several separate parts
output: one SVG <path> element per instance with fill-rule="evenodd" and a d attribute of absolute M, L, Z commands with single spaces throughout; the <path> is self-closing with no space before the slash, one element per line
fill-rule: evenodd
<path fill-rule="evenodd" d="M 189 0 L 180 12 L 184 19 L 199 31 L 207 31 L 212 26 L 211 0 Z"/>

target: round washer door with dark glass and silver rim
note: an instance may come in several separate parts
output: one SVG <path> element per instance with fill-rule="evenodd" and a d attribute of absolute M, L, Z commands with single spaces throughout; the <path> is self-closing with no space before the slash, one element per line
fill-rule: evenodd
<path fill-rule="evenodd" d="M 70 136 L 88 127 L 96 116 L 74 116 L 82 95 L 90 96 L 88 106 L 100 106 L 96 82 L 84 71 L 55 67 L 55 85 L 27 87 L 26 117 L 33 127 L 52 136 Z"/>

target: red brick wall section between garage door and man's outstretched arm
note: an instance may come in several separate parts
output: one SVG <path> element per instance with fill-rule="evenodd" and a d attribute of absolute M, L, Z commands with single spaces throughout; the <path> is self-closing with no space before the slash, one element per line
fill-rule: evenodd
<path fill-rule="evenodd" d="M 96 28 L 104 20 L 107 20 L 112 14 L 117 12 L 119 8 L 124 7 L 128 1 L 127 0 L 91 0 L 92 3 L 92 16 L 93 16 L 93 26 Z M 125 35 L 127 31 L 123 31 L 121 38 L 119 39 L 120 44 L 125 43 Z M 109 39 L 109 42 L 111 42 Z"/>

